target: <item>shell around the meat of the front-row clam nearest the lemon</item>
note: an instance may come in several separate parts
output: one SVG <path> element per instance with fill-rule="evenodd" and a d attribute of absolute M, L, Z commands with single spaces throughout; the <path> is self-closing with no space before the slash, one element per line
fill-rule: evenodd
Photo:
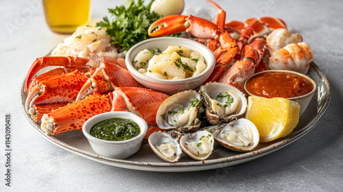
<path fill-rule="evenodd" d="M 241 146 L 233 145 L 233 143 L 228 143 L 227 141 L 220 139 L 220 134 L 222 134 L 224 130 L 228 128 L 229 126 L 242 128 L 244 125 L 248 125 L 248 129 L 250 129 L 250 133 L 251 133 L 250 136 L 252 136 L 252 139 L 250 139 L 252 141 L 250 145 L 241 147 Z M 215 138 L 215 141 L 217 141 L 217 143 L 226 147 L 227 149 L 231 149 L 236 152 L 252 151 L 259 144 L 259 131 L 257 130 L 255 124 L 249 121 L 248 119 L 243 119 L 243 118 L 238 119 L 237 121 L 231 121 L 230 123 L 227 123 L 226 125 L 224 125 L 222 128 L 215 130 L 213 132 L 213 136 Z"/>

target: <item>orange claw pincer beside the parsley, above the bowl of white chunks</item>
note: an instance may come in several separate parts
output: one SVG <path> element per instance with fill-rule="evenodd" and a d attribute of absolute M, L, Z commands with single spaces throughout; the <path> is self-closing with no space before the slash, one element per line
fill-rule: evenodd
<path fill-rule="evenodd" d="M 150 25 L 149 29 L 147 29 L 148 34 L 152 37 L 158 37 L 185 32 L 189 27 L 185 24 L 186 19 L 187 16 L 180 14 L 165 16 Z"/>

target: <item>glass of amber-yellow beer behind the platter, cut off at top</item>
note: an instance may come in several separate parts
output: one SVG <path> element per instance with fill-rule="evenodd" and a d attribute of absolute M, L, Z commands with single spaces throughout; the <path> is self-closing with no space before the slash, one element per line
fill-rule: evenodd
<path fill-rule="evenodd" d="M 90 18 L 91 0 L 43 0 L 45 19 L 56 33 L 71 34 Z"/>

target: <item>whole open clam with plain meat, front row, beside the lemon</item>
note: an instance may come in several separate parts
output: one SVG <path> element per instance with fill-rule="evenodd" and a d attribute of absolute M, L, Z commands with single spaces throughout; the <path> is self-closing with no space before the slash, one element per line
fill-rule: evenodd
<path fill-rule="evenodd" d="M 236 152 L 248 152 L 259 144 L 259 131 L 248 119 L 238 119 L 214 130 L 215 141 Z"/>

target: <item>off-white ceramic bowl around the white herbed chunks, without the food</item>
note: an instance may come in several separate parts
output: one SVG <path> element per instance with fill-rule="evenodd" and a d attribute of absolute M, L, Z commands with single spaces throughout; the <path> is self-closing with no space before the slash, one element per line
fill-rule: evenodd
<path fill-rule="evenodd" d="M 198 51 L 204 57 L 207 65 L 206 69 L 195 77 L 189 77 L 183 80 L 159 80 L 152 77 L 147 77 L 146 75 L 139 73 L 139 71 L 134 68 L 132 62 L 139 51 L 142 51 L 143 49 L 154 48 L 158 48 L 163 51 L 167 49 L 169 45 L 186 47 L 187 49 L 191 49 L 192 51 Z M 137 82 L 147 88 L 151 88 L 154 91 L 167 93 L 169 95 L 178 93 L 180 91 L 187 91 L 198 88 L 210 77 L 215 67 L 215 56 L 209 48 L 202 45 L 201 43 L 196 42 L 195 40 L 176 37 L 160 37 L 143 40 L 141 43 L 138 43 L 137 45 L 131 47 L 131 49 L 126 54 L 125 61 L 128 71 L 130 71 L 132 77 L 134 77 Z"/>

